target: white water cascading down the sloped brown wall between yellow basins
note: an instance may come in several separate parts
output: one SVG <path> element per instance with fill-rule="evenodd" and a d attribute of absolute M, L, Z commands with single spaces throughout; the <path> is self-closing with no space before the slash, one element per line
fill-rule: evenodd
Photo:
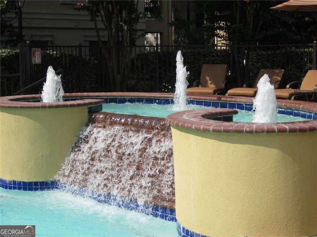
<path fill-rule="evenodd" d="M 114 205 L 130 199 L 141 205 L 173 202 L 170 132 L 104 126 L 92 123 L 82 130 L 55 179 L 66 191 L 87 188 L 88 197 L 110 194 Z"/>

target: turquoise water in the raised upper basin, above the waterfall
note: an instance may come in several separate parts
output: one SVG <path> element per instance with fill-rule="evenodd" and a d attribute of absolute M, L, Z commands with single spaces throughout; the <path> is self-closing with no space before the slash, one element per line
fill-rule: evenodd
<path fill-rule="evenodd" d="M 214 109 L 213 107 L 199 106 L 199 105 L 187 105 L 188 110 L 199 109 Z M 158 105 L 158 104 L 144 104 L 144 103 L 108 103 L 103 104 L 102 112 L 125 114 L 125 115 L 140 115 L 166 118 L 169 114 L 177 111 L 173 110 L 173 105 Z M 235 122 L 252 122 L 254 112 L 246 110 L 238 110 L 238 114 L 233 116 Z M 277 115 L 277 122 L 295 122 L 308 120 L 306 118 L 294 117 L 290 115 Z"/>

